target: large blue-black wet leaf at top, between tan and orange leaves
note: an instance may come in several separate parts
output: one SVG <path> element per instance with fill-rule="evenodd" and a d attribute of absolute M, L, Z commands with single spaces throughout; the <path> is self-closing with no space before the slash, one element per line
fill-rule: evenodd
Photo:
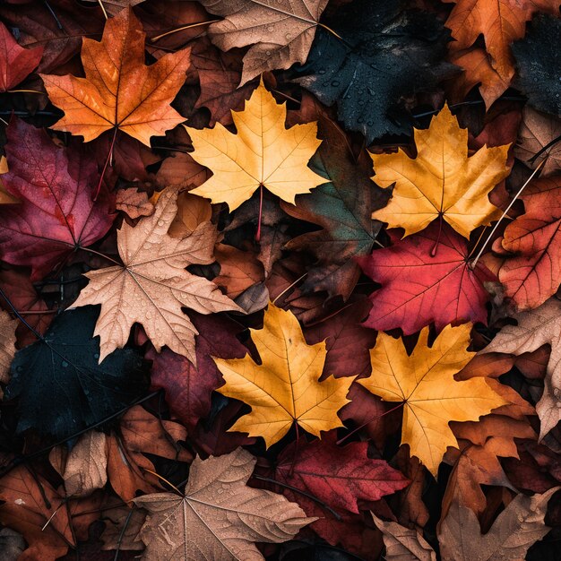
<path fill-rule="evenodd" d="M 456 66 L 444 63 L 447 31 L 431 13 L 402 12 L 398 0 L 355 0 L 317 31 L 298 82 L 367 144 L 410 131 L 401 96 L 430 88 Z"/>

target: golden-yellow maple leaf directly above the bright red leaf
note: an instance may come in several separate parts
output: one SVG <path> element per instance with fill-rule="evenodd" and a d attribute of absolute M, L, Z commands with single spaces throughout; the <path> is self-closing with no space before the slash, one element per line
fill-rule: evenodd
<path fill-rule="evenodd" d="M 395 184 L 388 205 L 372 218 L 389 228 L 405 229 L 405 236 L 427 228 L 436 218 L 446 220 L 464 237 L 496 220 L 500 210 L 488 193 L 505 179 L 509 145 L 483 146 L 468 157 L 468 131 L 447 105 L 426 130 L 415 129 L 417 157 L 401 149 L 393 154 L 370 154 L 376 185 Z"/>

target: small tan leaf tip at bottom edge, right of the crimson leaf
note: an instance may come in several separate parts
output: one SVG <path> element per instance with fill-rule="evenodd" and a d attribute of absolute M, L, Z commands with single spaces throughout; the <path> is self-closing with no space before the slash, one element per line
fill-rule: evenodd
<path fill-rule="evenodd" d="M 436 561 L 436 553 L 418 531 L 397 522 L 384 522 L 372 514 L 375 525 L 384 534 L 387 561 Z"/>

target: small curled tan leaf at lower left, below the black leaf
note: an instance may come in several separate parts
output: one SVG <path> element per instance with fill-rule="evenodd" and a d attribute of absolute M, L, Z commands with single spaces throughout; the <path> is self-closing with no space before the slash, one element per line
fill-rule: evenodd
<path fill-rule="evenodd" d="M 105 433 L 91 430 L 81 436 L 66 460 L 65 489 L 69 496 L 87 496 L 108 482 Z"/>

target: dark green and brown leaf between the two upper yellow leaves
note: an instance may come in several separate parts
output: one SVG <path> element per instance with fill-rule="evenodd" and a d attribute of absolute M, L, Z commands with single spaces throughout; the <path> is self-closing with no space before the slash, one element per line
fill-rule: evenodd
<path fill-rule="evenodd" d="M 380 229 L 371 211 L 384 206 L 389 194 L 370 181 L 372 168 L 363 158 L 364 152 L 358 161 L 354 160 L 339 126 L 325 118 L 318 125 L 322 144 L 310 167 L 329 183 L 316 187 L 309 195 L 298 196 L 296 206 L 280 206 L 290 216 L 322 229 L 290 240 L 285 248 L 307 250 L 316 257 L 300 287 L 304 292 L 326 290 L 330 296 L 341 294 L 346 300 L 360 274 L 354 257 L 370 253 Z"/>

